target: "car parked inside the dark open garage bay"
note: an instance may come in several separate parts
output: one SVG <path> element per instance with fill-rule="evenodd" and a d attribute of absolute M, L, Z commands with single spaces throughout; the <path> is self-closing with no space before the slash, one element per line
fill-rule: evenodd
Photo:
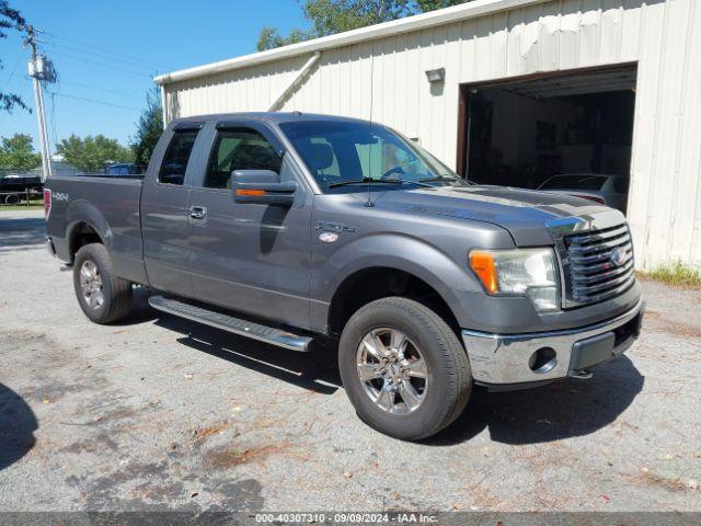
<path fill-rule="evenodd" d="M 628 183 L 628 175 L 610 173 L 560 174 L 548 179 L 538 190 L 594 201 L 625 214 Z"/>

